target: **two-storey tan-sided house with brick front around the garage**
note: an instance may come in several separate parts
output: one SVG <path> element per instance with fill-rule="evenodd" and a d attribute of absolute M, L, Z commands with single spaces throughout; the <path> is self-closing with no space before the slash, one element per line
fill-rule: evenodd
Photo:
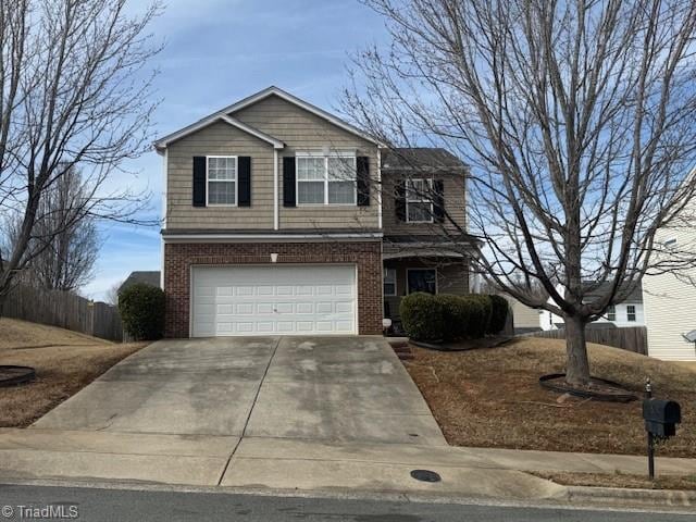
<path fill-rule="evenodd" d="M 423 223 L 445 209 L 465 225 L 464 169 L 444 151 L 412 151 L 433 162 L 418 183 L 436 195 L 417 201 L 399 181 L 409 165 L 276 87 L 156 149 L 167 337 L 380 334 L 383 289 L 390 313 L 409 291 L 467 291 L 465 259 Z"/>

